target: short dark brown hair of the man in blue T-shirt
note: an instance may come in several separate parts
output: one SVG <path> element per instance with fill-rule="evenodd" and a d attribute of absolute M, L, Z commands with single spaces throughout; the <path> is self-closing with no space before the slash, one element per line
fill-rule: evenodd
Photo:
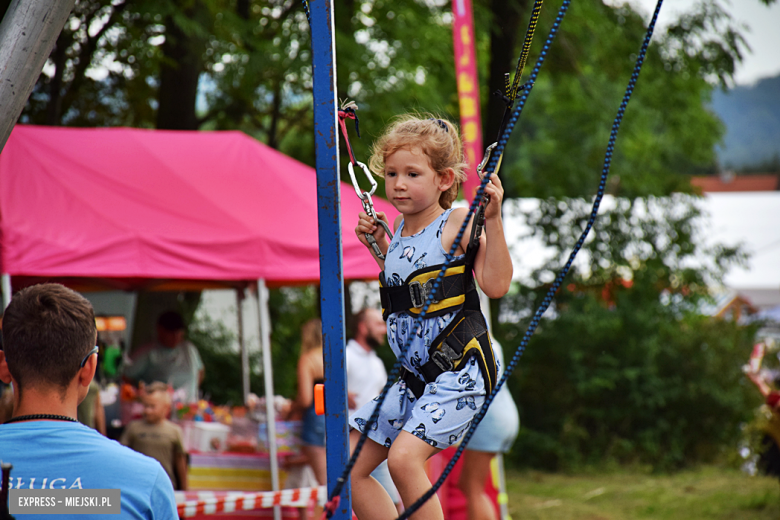
<path fill-rule="evenodd" d="M 59 284 L 22 289 L 3 315 L 3 350 L 21 388 L 66 388 L 96 337 L 92 304 Z"/>

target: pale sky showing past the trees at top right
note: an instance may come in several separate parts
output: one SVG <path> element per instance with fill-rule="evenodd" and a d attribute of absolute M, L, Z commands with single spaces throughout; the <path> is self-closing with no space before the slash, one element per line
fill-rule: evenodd
<path fill-rule="evenodd" d="M 665 0 L 661 6 L 658 23 L 663 27 L 680 13 L 690 11 L 699 0 Z M 751 85 L 756 81 L 780 74 L 780 0 L 766 6 L 759 0 L 718 0 L 720 5 L 736 22 L 747 25 L 750 30 L 743 35 L 752 52 L 746 53 L 742 64 L 737 66 L 735 80 L 738 85 Z M 611 4 L 623 3 L 619 0 Z M 628 0 L 647 15 L 655 9 L 656 0 Z"/>

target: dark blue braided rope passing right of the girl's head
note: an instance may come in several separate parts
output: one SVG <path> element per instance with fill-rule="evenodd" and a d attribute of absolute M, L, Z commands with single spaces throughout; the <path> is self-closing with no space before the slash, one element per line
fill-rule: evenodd
<path fill-rule="evenodd" d="M 512 360 L 507 365 L 503 375 L 496 383 L 495 388 L 485 398 L 485 403 L 480 408 L 479 412 L 477 412 L 477 415 L 474 416 L 474 419 L 472 420 L 471 427 L 466 432 L 466 434 L 463 436 L 463 441 L 461 441 L 460 446 L 458 446 L 457 451 L 453 455 L 452 459 L 450 459 L 447 466 L 444 468 L 444 471 L 442 472 L 439 479 L 436 481 L 436 483 L 433 485 L 433 487 L 426 492 L 417 502 L 412 504 L 409 509 L 405 510 L 404 513 L 398 517 L 398 520 L 403 520 L 407 518 L 409 515 L 413 514 L 417 509 L 419 509 L 420 505 L 425 502 L 428 498 L 430 498 L 433 493 L 435 493 L 441 485 L 444 483 L 444 480 L 447 478 L 449 473 L 452 471 L 452 469 L 455 467 L 455 463 L 460 458 L 461 454 L 463 453 L 463 450 L 466 449 L 466 446 L 468 445 L 468 442 L 471 440 L 471 437 L 474 435 L 474 431 L 476 430 L 479 423 L 484 418 L 485 414 L 487 413 L 488 407 L 493 402 L 493 399 L 496 397 L 498 392 L 501 390 L 501 387 L 504 385 L 506 380 L 509 378 L 510 375 L 512 375 L 512 372 L 517 367 L 517 364 L 520 361 L 520 358 L 522 357 L 523 353 L 525 352 L 525 348 L 528 346 L 528 341 L 530 340 L 533 333 L 536 331 L 537 326 L 539 325 L 539 321 L 542 318 L 542 315 L 545 313 L 547 308 L 550 306 L 550 303 L 552 302 L 552 298 L 555 295 L 555 293 L 558 291 L 558 289 L 561 286 L 561 283 L 563 283 L 563 279 L 568 273 L 569 269 L 571 268 L 572 262 L 574 262 L 574 258 L 577 256 L 577 253 L 582 248 L 583 243 L 585 242 L 585 238 L 590 233 L 591 228 L 593 227 L 593 224 L 596 221 L 596 215 L 598 214 L 599 206 L 601 204 L 601 200 L 604 198 L 604 188 L 606 186 L 607 182 L 607 176 L 609 175 L 609 169 L 612 164 L 612 154 L 615 149 L 615 140 L 617 139 L 618 130 L 620 129 L 620 124 L 623 121 L 623 116 L 626 112 L 626 107 L 628 106 L 628 102 L 631 99 L 631 95 L 634 92 L 634 88 L 636 86 L 636 82 L 639 79 L 639 73 L 642 70 L 642 65 L 644 63 L 645 55 L 647 54 L 647 48 L 650 45 L 650 39 L 653 36 L 653 31 L 655 30 L 655 24 L 658 19 L 658 14 L 661 10 L 661 5 L 663 4 L 663 0 L 658 0 L 658 3 L 656 4 L 655 11 L 653 12 L 652 20 L 650 21 L 650 24 L 647 27 L 647 32 L 645 33 L 645 39 L 642 42 L 642 48 L 639 52 L 639 56 L 636 59 L 636 62 L 634 64 L 634 70 L 631 74 L 631 78 L 628 81 L 628 85 L 626 87 L 625 94 L 623 95 L 623 100 L 620 103 L 620 107 L 618 108 L 617 115 L 615 116 L 615 120 L 612 124 L 612 131 L 610 132 L 609 136 L 609 142 L 607 144 L 607 151 L 604 155 L 604 163 L 601 170 L 601 180 L 599 182 L 599 188 L 598 193 L 596 195 L 596 198 L 593 202 L 593 209 L 591 210 L 590 217 L 588 219 L 588 223 L 585 226 L 585 229 L 583 230 L 582 234 L 580 235 L 579 240 L 577 241 L 576 245 L 574 246 L 574 249 L 572 250 L 571 254 L 569 255 L 569 259 L 566 262 L 566 265 L 561 269 L 561 271 L 558 273 L 558 276 L 555 278 L 555 282 L 553 283 L 552 287 L 547 291 L 547 295 L 545 296 L 544 300 L 542 301 L 542 304 L 539 306 L 539 308 L 536 310 L 536 313 L 534 314 L 533 319 L 531 320 L 530 325 L 528 326 L 528 329 L 526 330 L 525 334 L 523 335 L 523 339 L 520 342 L 520 346 L 515 351 L 514 356 L 512 356 Z M 525 96 L 527 96 L 528 92 L 525 92 Z M 524 97 L 525 97 L 524 96 Z M 506 132 L 502 136 L 502 140 L 506 142 L 506 138 L 508 138 L 509 134 L 511 134 L 512 129 L 514 128 L 515 123 L 517 122 L 517 115 L 519 115 L 519 110 L 522 109 L 522 106 L 518 107 L 518 110 L 515 111 L 515 113 L 512 114 L 512 119 L 510 120 L 510 124 L 507 127 Z M 499 143 L 500 146 L 501 143 Z"/>

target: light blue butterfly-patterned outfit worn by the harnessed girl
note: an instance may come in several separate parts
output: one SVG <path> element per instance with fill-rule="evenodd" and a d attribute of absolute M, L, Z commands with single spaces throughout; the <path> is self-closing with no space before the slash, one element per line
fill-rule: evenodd
<path fill-rule="evenodd" d="M 387 285 L 400 285 L 414 271 L 444 263 L 447 251 L 441 245 L 441 235 L 452 213 L 446 210 L 419 233 L 404 237 L 403 222 L 390 242 L 385 259 Z M 387 319 L 387 340 L 396 356 L 411 336 L 411 343 L 403 365 L 420 377 L 420 366 L 428 361 L 428 348 L 455 313 L 426 318 L 417 332 L 415 316 L 407 312 L 391 314 Z M 379 420 L 368 437 L 386 447 L 405 430 L 436 448 L 455 444 L 471 425 L 474 415 L 485 401 L 485 384 L 479 365 L 472 358 L 458 372 L 444 372 L 436 381 L 428 383 L 424 394 L 416 399 L 404 381 L 397 381 L 382 404 Z M 376 400 L 356 410 L 349 419 L 350 426 L 365 430 L 365 425 L 376 407 Z"/>

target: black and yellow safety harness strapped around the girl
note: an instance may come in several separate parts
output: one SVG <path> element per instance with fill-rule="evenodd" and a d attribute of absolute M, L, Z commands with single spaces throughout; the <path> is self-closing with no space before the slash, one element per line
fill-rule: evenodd
<path fill-rule="evenodd" d="M 435 381 L 444 372 L 459 371 L 472 358 L 482 371 L 486 391 L 492 392 L 496 384 L 496 360 L 474 283 L 474 259 L 482 231 L 477 220 L 475 217 L 466 254 L 462 259 L 450 263 L 425 314 L 425 319 L 428 319 L 455 311 L 455 317 L 431 342 L 428 361 L 419 370 L 423 379 L 406 368 L 401 371 L 401 379 L 418 399 L 428 383 Z M 440 264 L 418 269 L 402 285 L 392 287 L 388 287 L 385 273 L 380 273 L 382 317 L 387 320 L 391 314 L 404 311 L 419 315 L 433 291 L 433 282 L 441 268 Z"/>

